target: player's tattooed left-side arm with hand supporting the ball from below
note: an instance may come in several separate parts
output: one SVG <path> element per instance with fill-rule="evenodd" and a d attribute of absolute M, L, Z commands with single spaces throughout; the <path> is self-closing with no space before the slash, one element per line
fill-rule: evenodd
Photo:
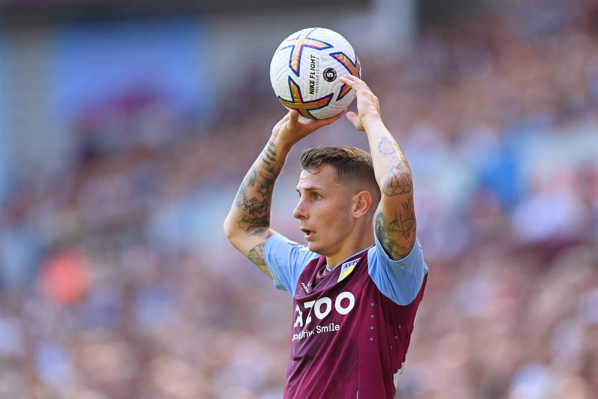
<path fill-rule="evenodd" d="M 305 136 L 331 124 L 344 114 L 311 120 L 290 111 L 272 129 L 264 151 L 245 175 L 230 212 L 224 221 L 228 240 L 271 278 L 264 261 L 264 245 L 274 230 L 270 228 L 270 206 L 274 182 L 282 170 L 286 156 Z"/>

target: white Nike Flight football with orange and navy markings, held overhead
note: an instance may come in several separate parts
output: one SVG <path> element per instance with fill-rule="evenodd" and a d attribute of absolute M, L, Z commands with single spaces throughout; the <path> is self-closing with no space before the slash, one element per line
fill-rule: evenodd
<path fill-rule="evenodd" d="M 308 28 L 286 38 L 274 53 L 270 81 L 286 109 L 306 118 L 324 119 L 338 114 L 355 99 L 338 78 L 361 78 L 353 47 L 337 32 Z"/>

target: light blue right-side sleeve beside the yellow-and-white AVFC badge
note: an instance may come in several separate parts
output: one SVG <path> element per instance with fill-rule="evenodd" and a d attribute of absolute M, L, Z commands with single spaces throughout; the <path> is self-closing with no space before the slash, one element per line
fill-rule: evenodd
<path fill-rule="evenodd" d="M 413 249 L 406 257 L 392 260 L 382 248 L 377 234 L 374 236 L 376 246 L 368 251 L 370 277 L 381 293 L 394 303 L 406 306 L 413 302 L 422 288 L 423 277 L 428 273 L 422 246 L 416 237 Z"/>

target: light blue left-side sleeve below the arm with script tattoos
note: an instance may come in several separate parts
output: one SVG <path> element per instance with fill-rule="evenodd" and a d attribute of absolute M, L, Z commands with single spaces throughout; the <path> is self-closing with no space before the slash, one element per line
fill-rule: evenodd
<path fill-rule="evenodd" d="M 271 236 L 264 245 L 264 260 L 274 280 L 274 287 L 289 291 L 291 296 L 303 269 L 310 260 L 319 256 L 307 249 L 307 246 L 299 245 L 278 233 Z"/>

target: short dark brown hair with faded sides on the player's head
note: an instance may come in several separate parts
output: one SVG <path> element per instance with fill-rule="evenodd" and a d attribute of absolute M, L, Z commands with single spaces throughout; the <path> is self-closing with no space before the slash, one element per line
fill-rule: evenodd
<path fill-rule="evenodd" d="M 339 181 L 362 181 L 371 189 L 374 203 L 380 202 L 380 187 L 374 174 L 370 154 L 356 147 L 306 148 L 301 153 L 301 169 L 308 170 L 328 164 L 337 171 Z M 375 207 L 374 207 L 375 208 Z"/>

